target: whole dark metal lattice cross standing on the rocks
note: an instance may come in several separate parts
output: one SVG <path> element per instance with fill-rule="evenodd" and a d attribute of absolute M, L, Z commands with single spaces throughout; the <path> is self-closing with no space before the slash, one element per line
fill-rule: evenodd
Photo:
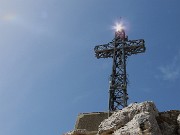
<path fill-rule="evenodd" d="M 127 106 L 127 74 L 126 59 L 132 54 L 145 52 L 143 39 L 128 40 L 125 31 L 115 32 L 112 42 L 95 46 L 96 57 L 113 58 L 112 74 L 109 89 L 109 111 L 119 110 Z"/>

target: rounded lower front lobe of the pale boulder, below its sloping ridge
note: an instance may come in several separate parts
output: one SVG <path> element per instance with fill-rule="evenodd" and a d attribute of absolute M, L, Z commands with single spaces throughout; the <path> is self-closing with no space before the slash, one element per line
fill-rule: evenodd
<path fill-rule="evenodd" d="M 162 135 L 154 115 L 142 112 L 134 116 L 125 126 L 114 132 L 114 135 Z"/>

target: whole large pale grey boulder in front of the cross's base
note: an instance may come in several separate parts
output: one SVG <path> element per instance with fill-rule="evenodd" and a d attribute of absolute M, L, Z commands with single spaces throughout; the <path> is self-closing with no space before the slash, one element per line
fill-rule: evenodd
<path fill-rule="evenodd" d="M 140 131 L 160 133 L 155 119 L 157 116 L 158 110 L 153 102 L 133 103 L 102 121 L 98 134 L 140 135 Z"/>

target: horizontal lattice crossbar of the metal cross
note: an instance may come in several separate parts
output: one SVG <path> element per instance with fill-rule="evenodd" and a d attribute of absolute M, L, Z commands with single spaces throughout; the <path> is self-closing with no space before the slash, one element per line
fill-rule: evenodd
<path fill-rule="evenodd" d="M 94 51 L 96 57 L 99 58 L 109 58 L 113 57 L 113 50 L 121 50 L 122 46 L 124 44 L 124 50 L 125 54 L 130 56 L 132 54 L 137 54 L 137 53 L 142 53 L 145 52 L 145 45 L 144 45 L 144 40 L 139 39 L 139 40 L 128 40 L 128 41 L 116 41 L 116 48 L 114 48 L 114 41 L 104 44 L 104 45 L 98 45 L 95 46 Z"/>

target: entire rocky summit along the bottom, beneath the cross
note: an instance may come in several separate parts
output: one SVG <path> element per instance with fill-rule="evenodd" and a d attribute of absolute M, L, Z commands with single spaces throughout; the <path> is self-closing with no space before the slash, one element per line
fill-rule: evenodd
<path fill-rule="evenodd" d="M 107 114 L 107 112 L 104 113 Z M 92 127 L 94 119 L 102 118 L 103 113 L 89 114 L 83 114 L 83 119 L 81 118 L 83 123 L 88 120 L 85 126 L 82 126 L 82 120 L 79 120 L 78 124 L 80 125 L 76 125 L 79 128 L 88 128 L 75 128 L 74 131 L 65 135 L 180 135 L 180 110 L 158 112 L 155 104 L 151 101 L 133 103 L 114 112 L 100 123 L 96 128 L 97 131 L 94 131 L 94 127 L 92 129 L 90 127 Z M 84 115 L 88 117 L 84 117 Z M 93 120 L 91 123 L 89 118 Z"/>

